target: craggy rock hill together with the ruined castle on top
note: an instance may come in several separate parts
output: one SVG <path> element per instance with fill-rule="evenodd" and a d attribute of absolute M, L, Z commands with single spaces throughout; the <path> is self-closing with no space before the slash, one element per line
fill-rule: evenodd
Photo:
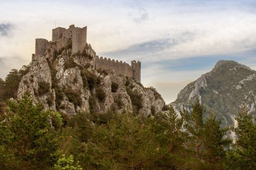
<path fill-rule="evenodd" d="M 29 67 L 18 97 L 29 91 L 35 103 L 53 111 L 74 115 L 115 109 L 148 116 L 165 105 L 155 88 L 140 83 L 141 62 L 98 57 L 86 42 L 86 27 L 59 27 L 53 29 L 52 41 L 36 39 Z"/>

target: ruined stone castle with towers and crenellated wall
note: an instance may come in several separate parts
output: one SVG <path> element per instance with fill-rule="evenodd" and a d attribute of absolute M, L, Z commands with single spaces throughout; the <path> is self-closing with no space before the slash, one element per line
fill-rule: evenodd
<path fill-rule="evenodd" d="M 86 35 L 87 27 L 79 28 L 75 25 L 70 25 L 68 29 L 57 27 L 52 29 L 52 41 L 46 39 L 36 39 L 35 41 L 35 56 L 44 56 L 46 50 L 49 48 L 50 43 L 55 44 L 55 50 L 60 50 L 68 44 L 69 41 L 72 42 L 71 54 L 75 55 L 82 52 L 86 46 Z M 141 62 L 131 61 L 131 65 L 122 61 L 115 61 L 110 58 L 103 58 L 95 56 L 93 59 L 96 62 L 94 66 L 95 69 L 113 69 L 115 73 L 124 76 L 132 77 L 137 82 L 141 82 Z"/>

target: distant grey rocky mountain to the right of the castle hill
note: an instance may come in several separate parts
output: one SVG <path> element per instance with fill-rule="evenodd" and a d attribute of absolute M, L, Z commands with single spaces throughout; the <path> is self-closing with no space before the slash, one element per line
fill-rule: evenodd
<path fill-rule="evenodd" d="M 190 109 L 195 99 L 207 109 L 204 117 L 213 111 L 223 126 L 236 125 L 234 116 L 242 104 L 256 117 L 256 71 L 235 61 L 218 61 L 212 71 L 183 88 L 171 105 Z"/>

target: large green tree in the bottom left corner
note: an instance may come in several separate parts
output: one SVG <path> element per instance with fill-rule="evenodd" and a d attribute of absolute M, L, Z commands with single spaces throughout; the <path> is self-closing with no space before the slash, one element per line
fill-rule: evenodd
<path fill-rule="evenodd" d="M 51 127 L 50 114 L 41 104 L 34 105 L 28 92 L 9 102 L 0 123 L 1 168 L 44 169 L 56 162 L 58 135 Z"/>

